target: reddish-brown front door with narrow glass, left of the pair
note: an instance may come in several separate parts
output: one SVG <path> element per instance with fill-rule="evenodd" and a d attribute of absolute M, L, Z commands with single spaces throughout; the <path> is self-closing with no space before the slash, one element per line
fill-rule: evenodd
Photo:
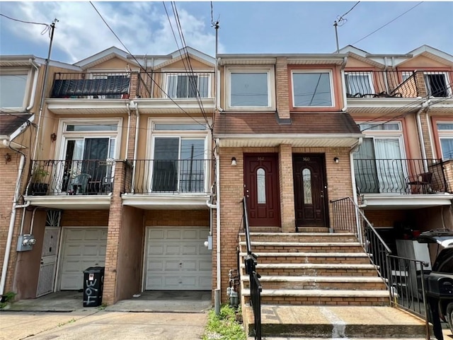
<path fill-rule="evenodd" d="M 244 194 L 248 223 L 254 227 L 280 227 L 278 156 L 276 153 L 244 155 Z"/>

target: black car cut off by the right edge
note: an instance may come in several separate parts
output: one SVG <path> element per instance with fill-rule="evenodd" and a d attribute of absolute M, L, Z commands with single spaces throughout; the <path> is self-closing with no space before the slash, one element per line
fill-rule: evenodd
<path fill-rule="evenodd" d="M 453 333 L 453 231 L 430 230 L 421 233 L 418 242 L 437 244 L 432 271 L 425 276 L 425 292 L 431 301 L 431 314 L 438 314 Z M 433 302 L 438 312 L 432 311 Z M 430 321 L 435 325 L 435 320 Z"/>

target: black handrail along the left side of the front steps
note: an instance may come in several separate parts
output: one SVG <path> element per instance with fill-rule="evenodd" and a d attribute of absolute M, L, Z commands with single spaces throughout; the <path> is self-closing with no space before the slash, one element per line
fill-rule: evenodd
<path fill-rule="evenodd" d="M 255 340 L 261 340 L 261 291 L 263 287 L 260 283 L 260 275 L 256 273 L 256 265 L 258 264 L 256 254 L 252 252 L 250 240 L 250 227 L 248 225 L 248 209 L 246 197 L 242 199 L 243 213 L 243 229 L 246 235 L 247 256 L 246 256 L 246 274 L 250 276 L 250 303 L 253 310 L 253 318 L 255 320 Z"/>

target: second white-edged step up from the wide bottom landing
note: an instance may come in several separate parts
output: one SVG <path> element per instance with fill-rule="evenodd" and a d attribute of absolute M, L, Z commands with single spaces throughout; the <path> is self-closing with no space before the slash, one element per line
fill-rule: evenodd
<path fill-rule="evenodd" d="M 250 276 L 241 276 L 243 286 L 250 288 Z M 380 277 L 371 276 L 261 276 L 263 289 L 342 289 L 386 290 Z"/>

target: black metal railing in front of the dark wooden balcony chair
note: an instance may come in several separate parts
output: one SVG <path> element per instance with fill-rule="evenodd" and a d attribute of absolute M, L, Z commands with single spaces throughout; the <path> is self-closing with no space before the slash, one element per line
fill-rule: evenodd
<path fill-rule="evenodd" d="M 449 192 L 440 159 L 355 159 L 360 194 Z"/>

